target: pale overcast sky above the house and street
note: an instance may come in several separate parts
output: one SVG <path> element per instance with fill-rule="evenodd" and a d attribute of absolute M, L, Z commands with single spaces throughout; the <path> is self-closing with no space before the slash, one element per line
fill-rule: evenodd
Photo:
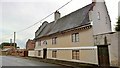
<path fill-rule="evenodd" d="M 0 0 L 0 43 L 10 42 L 10 39 L 13 39 L 13 33 L 16 32 L 16 43 L 19 47 L 25 48 L 26 41 L 35 38 L 35 31 L 42 22 L 52 22 L 54 15 L 27 30 L 23 31 L 22 29 L 55 12 L 68 1 L 70 0 Z M 105 0 L 113 31 L 118 17 L 119 1 Z M 61 17 L 91 2 L 92 0 L 72 0 L 68 5 L 59 10 Z"/>

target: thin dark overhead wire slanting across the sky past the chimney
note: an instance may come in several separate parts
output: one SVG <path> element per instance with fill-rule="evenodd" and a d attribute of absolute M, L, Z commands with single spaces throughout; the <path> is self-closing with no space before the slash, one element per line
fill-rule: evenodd
<path fill-rule="evenodd" d="M 72 1 L 72 0 L 70 0 L 69 2 L 67 2 L 66 4 L 64 4 L 63 6 L 61 6 L 60 8 L 58 8 L 56 11 L 58 11 L 58 10 L 62 9 L 63 7 L 65 7 L 66 5 L 68 5 L 71 1 Z M 49 15 L 47 15 L 46 17 L 44 17 L 44 18 L 43 18 L 43 19 L 41 19 L 40 21 L 38 21 L 38 22 L 34 23 L 33 25 L 28 26 L 27 28 L 24 28 L 24 29 L 21 29 L 21 30 L 17 31 L 17 33 L 19 33 L 19 32 L 23 32 L 23 31 L 25 31 L 25 30 L 27 30 L 27 29 L 29 29 L 29 28 L 33 27 L 34 25 L 36 25 L 36 24 L 38 24 L 38 23 L 41 23 L 41 21 L 45 20 L 46 18 L 48 18 L 48 17 L 49 17 L 49 16 L 51 16 L 52 14 L 54 14 L 54 12 L 52 12 L 52 13 L 51 13 L 51 14 L 49 14 Z"/>

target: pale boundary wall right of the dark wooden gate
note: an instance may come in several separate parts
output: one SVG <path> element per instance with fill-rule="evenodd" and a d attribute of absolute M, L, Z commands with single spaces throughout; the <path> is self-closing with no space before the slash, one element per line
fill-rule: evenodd
<path fill-rule="evenodd" d="M 111 34 L 111 45 L 109 46 L 110 63 L 112 66 L 120 67 L 120 32 Z"/>

